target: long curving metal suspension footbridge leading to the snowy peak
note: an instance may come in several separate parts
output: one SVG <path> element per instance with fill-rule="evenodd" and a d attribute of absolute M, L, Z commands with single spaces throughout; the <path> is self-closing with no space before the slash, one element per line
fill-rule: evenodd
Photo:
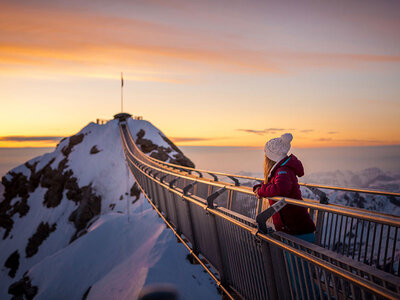
<path fill-rule="evenodd" d="M 125 118 L 119 120 L 126 162 L 140 190 L 224 297 L 400 299 L 400 218 L 328 204 L 321 189 L 399 193 L 301 184 L 320 201 L 285 201 L 309 210 L 317 227 L 315 244 L 272 227 L 263 234 L 255 217 L 267 201 L 241 184 L 262 179 L 154 159 L 137 147 Z"/>

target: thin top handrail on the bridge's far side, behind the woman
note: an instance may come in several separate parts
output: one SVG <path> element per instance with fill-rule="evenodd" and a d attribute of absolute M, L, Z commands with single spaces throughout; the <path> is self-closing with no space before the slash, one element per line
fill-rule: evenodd
<path fill-rule="evenodd" d="M 132 140 L 133 144 L 135 142 L 133 141 L 132 137 L 129 135 L 129 138 Z M 214 175 L 219 175 L 219 176 L 224 176 L 224 177 L 235 177 L 235 178 L 241 178 L 241 179 L 249 179 L 249 180 L 254 180 L 254 181 L 264 181 L 263 178 L 258 178 L 258 177 L 252 177 L 252 176 L 244 176 L 244 175 L 237 175 L 237 174 L 230 174 L 230 173 L 223 173 L 223 172 L 217 172 L 217 171 L 210 171 L 210 170 L 203 170 L 203 169 L 196 169 L 196 168 L 191 168 L 191 167 L 186 167 L 186 166 L 181 166 L 173 163 L 167 163 L 161 160 L 158 160 L 154 157 L 148 156 L 149 160 L 152 160 L 155 163 L 161 164 L 161 165 L 167 165 L 172 168 L 177 168 L 177 169 L 185 169 L 191 172 L 202 172 L 202 173 L 207 173 L 207 174 L 214 174 Z M 320 189 L 328 189 L 328 190 L 338 190 L 338 191 L 345 191 L 345 192 L 355 192 L 355 193 L 363 193 L 363 194 L 373 194 L 373 195 L 381 195 L 381 196 L 393 196 L 393 197 L 400 197 L 400 193 L 395 193 L 395 192 L 386 192 L 386 191 L 378 191 L 378 190 L 370 190 L 370 189 L 358 189 L 358 188 L 345 188 L 345 187 L 338 187 L 338 186 L 328 186 L 328 185 L 319 185 L 319 184 L 311 184 L 311 183 L 302 183 L 299 182 L 299 185 L 304 186 L 304 187 L 315 187 L 315 188 L 320 188 Z"/>

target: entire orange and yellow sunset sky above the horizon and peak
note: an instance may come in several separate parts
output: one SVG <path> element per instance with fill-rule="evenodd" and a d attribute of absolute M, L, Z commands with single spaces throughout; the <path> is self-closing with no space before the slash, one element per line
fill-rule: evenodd
<path fill-rule="evenodd" d="M 143 116 L 178 145 L 400 144 L 400 1 L 0 0 L 0 147 Z"/>

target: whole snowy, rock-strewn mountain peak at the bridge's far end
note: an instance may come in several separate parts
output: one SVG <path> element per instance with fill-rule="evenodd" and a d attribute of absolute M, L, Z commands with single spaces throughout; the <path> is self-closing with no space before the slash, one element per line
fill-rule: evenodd
<path fill-rule="evenodd" d="M 128 125 L 145 153 L 193 166 L 149 122 Z M 90 123 L 2 178 L 0 299 L 135 299 L 152 283 L 220 298 L 186 255 L 128 172 L 116 120 Z"/>

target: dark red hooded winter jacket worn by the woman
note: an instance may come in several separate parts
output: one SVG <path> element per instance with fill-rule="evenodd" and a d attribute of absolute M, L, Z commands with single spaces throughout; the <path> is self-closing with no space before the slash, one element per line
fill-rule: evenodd
<path fill-rule="evenodd" d="M 293 154 L 283 158 L 272 170 L 267 184 L 261 184 L 258 195 L 260 197 L 281 196 L 293 199 L 301 198 L 300 186 L 296 176 L 303 176 L 304 169 L 300 160 Z M 268 200 L 272 205 L 276 201 Z M 272 221 L 277 231 L 292 235 L 311 233 L 315 225 L 307 208 L 287 204 L 278 213 L 272 216 Z"/>

